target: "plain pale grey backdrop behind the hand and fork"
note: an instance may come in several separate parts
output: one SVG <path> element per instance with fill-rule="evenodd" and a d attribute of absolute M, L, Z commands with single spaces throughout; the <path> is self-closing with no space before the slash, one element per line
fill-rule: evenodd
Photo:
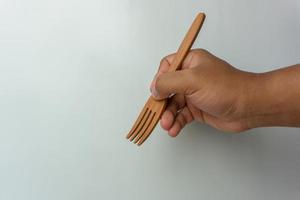
<path fill-rule="evenodd" d="M 195 48 L 256 72 L 300 61 L 299 0 L 0 0 L 0 199 L 299 198 L 300 129 L 124 139 L 198 11 Z"/>

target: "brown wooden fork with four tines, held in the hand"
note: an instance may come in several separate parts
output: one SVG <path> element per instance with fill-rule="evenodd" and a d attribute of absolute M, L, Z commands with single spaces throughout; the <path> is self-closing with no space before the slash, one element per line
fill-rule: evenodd
<path fill-rule="evenodd" d="M 187 34 L 185 35 L 179 49 L 175 55 L 174 61 L 171 63 L 169 72 L 180 69 L 181 64 L 187 56 L 190 48 L 192 47 L 205 19 L 204 13 L 199 13 Z M 134 141 L 137 145 L 143 144 L 143 142 L 149 137 L 157 122 L 159 121 L 162 113 L 167 105 L 167 100 L 155 100 L 152 96 L 144 105 L 143 110 L 135 121 L 132 129 L 126 136 L 130 141 Z"/>

